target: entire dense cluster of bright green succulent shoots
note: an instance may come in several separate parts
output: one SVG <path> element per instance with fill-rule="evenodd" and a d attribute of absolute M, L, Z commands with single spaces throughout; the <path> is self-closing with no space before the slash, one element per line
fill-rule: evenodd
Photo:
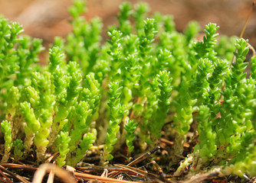
<path fill-rule="evenodd" d="M 100 18 L 80 16 L 84 4 L 69 9 L 73 31 L 56 37 L 46 66 L 37 64 L 41 40 L 0 18 L 2 162 L 35 154 L 39 164 L 58 152 L 57 165 L 76 165 L 104 144 L 104 164 L 124 144 L 129 159 L 162 137 L 174 140 L 171 167 L 192 133 L 196 145 L 175 175 L 220 165 L 256 176 L 256 57 L 247 74 L 248 40 L 218 37 L 209 23 L 200 42 L 196 22 L 180 33 L 172 16 L 146 18 L 146 4 L 124 2 L 103 42 Z"/>

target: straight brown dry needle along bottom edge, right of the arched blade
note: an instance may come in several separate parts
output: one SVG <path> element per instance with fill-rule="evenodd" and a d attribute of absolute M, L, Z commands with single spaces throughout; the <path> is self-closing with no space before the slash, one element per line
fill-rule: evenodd
<path fill-rule="evenodd" d="M 106 177 L 100 177 L 97 175 L 90 175 L 90 174 L 83 174 L 83 173 L 77 173 L 75 172 L 74 175 L 78 178 L 84 178 L 89 181 L 100 181 L 100 182 L 120 182 L 120 183 L 139 183 L 143 181 L 124 181 L 124 180 L 117 180 L 116 178 L 106 178 Z"/>

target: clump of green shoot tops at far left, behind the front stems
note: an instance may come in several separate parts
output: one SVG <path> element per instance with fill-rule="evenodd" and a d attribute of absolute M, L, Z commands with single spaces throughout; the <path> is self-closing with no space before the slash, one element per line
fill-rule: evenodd
<path fill-rule="evenodd" d="M 42 40 L 19 36 L 23 29 L 16 22 L 9 23 L 8 19 L 1 17 L 0 31 L 0 108 L 4 109 L 2 103 L 7 93 L 2 91 L 11 86 L 31 84 L 31 71 L 36 69 L 33 63 L 38 62 L 38 53 L 44 48 Z"/>

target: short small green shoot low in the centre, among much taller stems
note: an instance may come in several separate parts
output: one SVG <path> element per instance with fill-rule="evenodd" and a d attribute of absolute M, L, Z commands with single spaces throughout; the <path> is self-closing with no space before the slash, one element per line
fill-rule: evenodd
<path fill-rule="evenodd" d="M 138 124 L 134 120 L 128 120 L 126 126 L 123 128 L 126 130 L 126 146 L 128 147 L 128 152 L 132 152 L 134 149 L 133 140 L 135 138 L 135 130 Z"/>

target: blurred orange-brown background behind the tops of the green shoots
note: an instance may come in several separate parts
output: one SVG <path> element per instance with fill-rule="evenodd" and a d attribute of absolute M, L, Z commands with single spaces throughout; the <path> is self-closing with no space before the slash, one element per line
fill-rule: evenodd
<path fill-rule="evenodd" d="M 117 24 L 118 6 L 124 0 L 87 0 L 87 12 L 84 16 L 100 17 L 103 20 L 103 38 L 107 38 L 106 30 L 110 24 Z M 162 14 L 172 14 L 176 22 L 176 29 L 184 30 L 189 21 L 199 21 L 204 27 L 208 22 L 220 26 L 218 32 L 228 36 L 239 36 L 253 0 L 130 0 L 147 2 L 150 13 L 159 11 Z M 64 37 L 71 32 L 71 15 L 67 7 L 71 0 L 0 0 L 0 14 L 10 21 L 23 24 L 25 34 L 43 39 L 44 47 L 52 43 L 55 36 Z M 203 34 L 202 34 L 203 35 Z M 244 34 L 245 39 L 256 47 L 256 11 L 251 14 L 248 27 Z M 199 40 L 202 37 L 199 36 Z M 104 40 L 104 39 L 103 39 Z M 41 56 L 44 56 L 42 53 Z"/>

